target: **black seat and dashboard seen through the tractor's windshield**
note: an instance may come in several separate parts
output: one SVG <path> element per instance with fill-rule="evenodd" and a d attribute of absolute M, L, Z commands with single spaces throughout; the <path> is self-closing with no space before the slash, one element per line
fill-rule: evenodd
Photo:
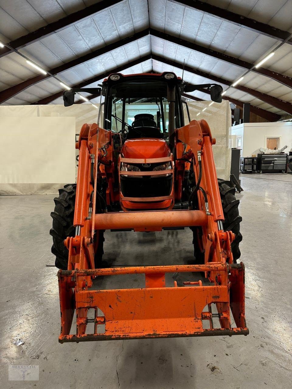
<path fill-rule="evenodd" d="M 132 127 L 129 128 L 127 139 L 134 138 L 163 138 L 154 116 L 150 114 L 138 114 L 134 116 Z"/>

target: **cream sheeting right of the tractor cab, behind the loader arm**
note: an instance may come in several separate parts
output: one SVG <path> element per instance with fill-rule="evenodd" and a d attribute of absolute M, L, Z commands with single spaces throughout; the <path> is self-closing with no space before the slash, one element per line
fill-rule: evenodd
<path fill-rule="evenodd" d="M 222 103 L 209 105 L 210 103 L 210 101 L 188 102 L 188 109 L 191 120 L 205 119 L 208 122 L 212 136 L 216 138 L 216 144 L 213 145 L 213 154 L 217 177 L 229 180 L 231 165 L 231 109 L 227 100 L 223 100 Z M 183 107 L 185 124 L 187 124 L 188 115 L 185 104 L 183 104 Z"/>

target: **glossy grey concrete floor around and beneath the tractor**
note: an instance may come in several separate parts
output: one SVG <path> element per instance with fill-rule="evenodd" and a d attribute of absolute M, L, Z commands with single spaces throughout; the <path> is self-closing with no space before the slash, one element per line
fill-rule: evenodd
<path fill-rule="evenodd" d="M 46 266 L 54 263 L 54 196 L 1 196 L 0 387 L 291 388 L 292 175 L 245 174 L 241 183 L 250 335 L 231 338 L 61 345 L 56 268 Z M 193 255 L 190 230 L 106 233 L 104 249 L 115 265 L 186 263 Z M 142 286 L 137 276 L 116 277 L 117 286 Z M 25 343 L 17 346 L 19 338 Z M 11 364 L 39 365 L 39 381 L 8 381 Z"/>

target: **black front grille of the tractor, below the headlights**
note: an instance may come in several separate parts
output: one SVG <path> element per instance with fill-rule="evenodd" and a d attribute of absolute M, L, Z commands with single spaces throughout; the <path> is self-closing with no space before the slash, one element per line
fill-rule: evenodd
<path fill-rule="evenodd" d="M 164 177 L 123 177 L 121 175 L 121 193 L 125 197 L 170 196 L 172 174 Z"/>

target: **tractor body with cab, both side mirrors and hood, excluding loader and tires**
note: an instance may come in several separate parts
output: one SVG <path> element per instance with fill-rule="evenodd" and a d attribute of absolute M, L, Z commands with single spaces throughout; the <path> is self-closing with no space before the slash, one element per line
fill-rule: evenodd
<path fill-rule="evenodd" d="M 126 212 L 167 210 L 184 200 L 187 206 L 190 162 L 179 161 L 179 156 L 186 158 L 187 145 L 182 146 L 176 139 L 176 129 L 185 125 L 181 93 L 207 88 L 211 99 L 220 102 L 222 87 L 185 84 L 172 72 L 111 74 L 101 87 L 65 91 L 63 99 L 67 106 L 73 104 L 78 91 L 104 96 L 99 114 L 103 106 L 103 131 L 108 134 L 99 147 L 99 163 L 107 182 L 113 180 L 111 208 Z M 106 173 L 112 162 L 107 159 L 106 151 L 111 143 L 107 139 L 109 134 L 114 139 L 116 172 L 111 178 Z"/>

